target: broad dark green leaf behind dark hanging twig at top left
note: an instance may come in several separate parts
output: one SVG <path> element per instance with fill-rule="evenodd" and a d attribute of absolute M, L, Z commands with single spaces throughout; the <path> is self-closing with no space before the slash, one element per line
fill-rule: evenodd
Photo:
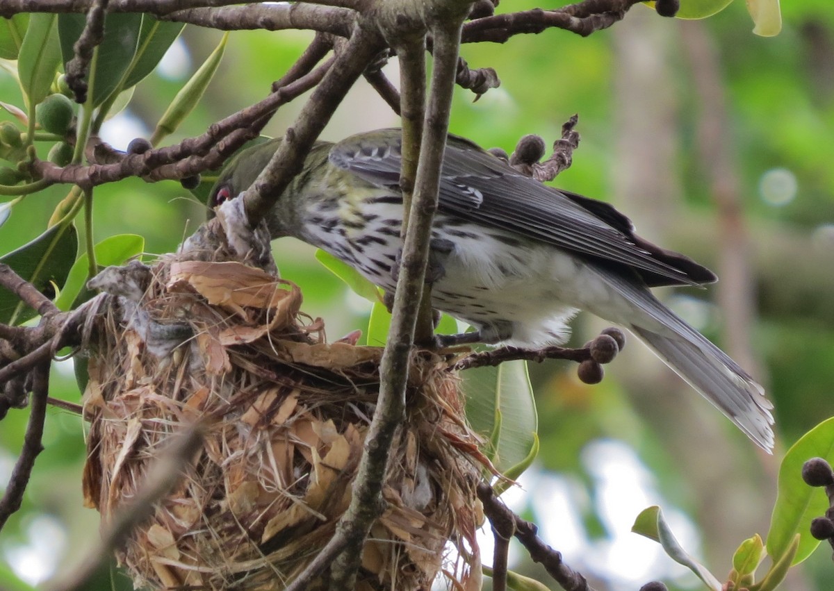
<path fill-rule="evenodd" d="M 58 16 L 58 34 L 64 63 L 74 57 L 73 44 L 81 36 L 85 20 L 83 14 Z M 104 18 L 104 38 L 95 49 L 84 78 L 88 83 L 88 100 L 93 101 L 93 108 L 102 104 L 118 88 L 124 73 L 133 62 L 141 28 L 140 13 L 110 13 Z"/>

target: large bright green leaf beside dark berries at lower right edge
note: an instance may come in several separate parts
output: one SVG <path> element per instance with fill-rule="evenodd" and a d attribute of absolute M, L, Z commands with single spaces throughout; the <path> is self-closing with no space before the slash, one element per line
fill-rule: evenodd
<path fill-rule="evenodd" d="M 820 543 L 811 536 L 811 519 L 826 512 L 828 500 L 822 488 L 810 487 L 802 480 L 802 464 L 811 458 L 834 462 L 834 418 L 805 433 L 782 458 L 776 504 L 766 543 L 767 553 L 776 561 L 789 551 L 797 533 L 800 541 L 793 558 L 794 564 L 808 558 Z"/>

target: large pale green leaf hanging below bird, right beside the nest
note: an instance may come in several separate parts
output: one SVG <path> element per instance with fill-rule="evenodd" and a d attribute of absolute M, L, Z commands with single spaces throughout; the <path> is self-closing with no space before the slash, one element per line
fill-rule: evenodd
<path fill-rule="evenodd" d="M 525 361 L 461 372 L 466 418 L 477 433 L 490 438 L 485 453 L 501 473 L 530 465 L 538 448 L 538 418 Z"/>

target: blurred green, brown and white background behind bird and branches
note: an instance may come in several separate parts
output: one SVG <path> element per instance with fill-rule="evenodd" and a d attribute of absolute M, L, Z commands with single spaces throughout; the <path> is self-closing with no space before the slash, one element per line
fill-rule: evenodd
<path fill-rule="evenodd" d="M 501 8 L 534 6 L 519 0 Z M 759 38 L 740 0 L 699 22 L 636 6 L 590 38 L 551 30 L 463 48 L 470 67 L 495 68 L 501 86 L 477 102 L 459 89 L 451 131 L 512 151 L 527 133 L 552 142 L 578 113 L 580 148 L 554 184 L 614 203 L 641 235 L 716 270 L 714 287 L 661 297 L 748 368 L 776 405 L 769 457 L 636 339 L 596 386 L 580 383 L 569 363 L 530 368 L 541 452 L 506 498 L 600 591 L 636 590 L 656 578 L 672 589 L 701 588 L 659 546 L 629 532 L 651 504 L 662 506 L 686 548 L 725 576 L 741 540 L 766 535 L 781 455 L 834 415 L 834 10 L 830 0 L 806 0 L 786 3 L 782 16 L 778 37 Z M 147 138 L 220 36 L 186 28 L 128 110 L 108 123 L 106 139 L 123 149 Z M 232 33 L 203 103 L 169 143 L 263 98 L 309 38 Z M 386 72 L 397 79 L 395 60 Z M 22 104 L 2 70 L 0 100 Z M 282 108 L 265 133 L 281 135 L 300 104 Z M 360 81 L 324 137 L 394 125 L 394 114 Z M 66 190 L 53 187 L 15 208 L 0 228 L 0 253 L 43 232 Z M 165 253 L 204 217 L 178 183 L 129 179 L 97 189 L 95 239 L 138 233 L 148 253 Z M 274 251 L 282 276 L 303 288 L 304 311 L 325 319 L 329 338 L 364 328 L 369 304 L 320 267 L 311 248 L 281 239 Z M 580 346 L 605 324 L 583 315 L 574 327 L 572 343 Z M 55 365 L 52 395 L 78 402 L 71 363 Z M 13 410 L 0 423 L 0 486 L 27 416 Z M 98 536 L 98 514 L 82 508 L 84 428 L 70 413 L 49 411 L 24 507 L 0 537 L 0 563 L 35 588 Z M 489 545 L 486 536 L 485 553 Z M 513 556 L 511 568 L 556 587 L 523 551 Z M 831 589 L 830 549 L 819 548 L 791 576 L 791 591 Z M 118 572 L 104 572 L 97 588 L 131 587 Z"/>

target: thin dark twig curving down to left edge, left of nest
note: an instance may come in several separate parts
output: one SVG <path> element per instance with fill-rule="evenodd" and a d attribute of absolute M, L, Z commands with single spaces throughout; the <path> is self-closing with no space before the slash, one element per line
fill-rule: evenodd
<path fill-rule="evenodd" d="M 32 407 L 29 410 L 29 423 L 23 436 L 23 449 L 18 462 L 8 480 L 8 487 L 0 499 L 0 529 L 9 516 L 20 508 L 23 493 L 29 483 L 29 476 L 35 465 L 35 458 L 43 451 L 43 423 L 46 420 L 47 393 L 49 391 L 49 364 L 39 365 L 33 371 Z"/>

